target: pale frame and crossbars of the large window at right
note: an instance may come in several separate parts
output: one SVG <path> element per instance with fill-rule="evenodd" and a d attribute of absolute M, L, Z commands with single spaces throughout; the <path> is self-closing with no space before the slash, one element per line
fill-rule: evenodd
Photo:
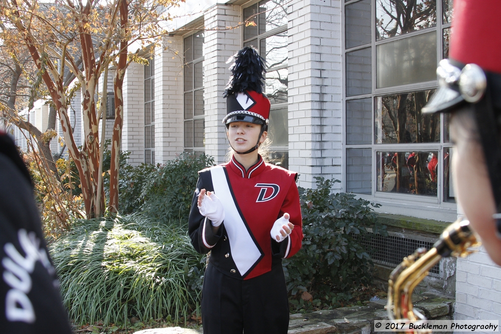
<path fill-rule="evenodd" d="M 396 95 L 402 93 L 410 93 L 410 92 L 418 92 L 423 90 L 433 90 L 438 88 L 437 80 L 420 82 L 414 84 L 406 84 L 401 86 L 392 86 L 385 88 L 376 88 L 376 80 L 377 80 L 377 55 L 376 49 L 377 46 L 395 42 L 402 39 L 407 39 L 413 36 L 418 36 L 426 33 L 436 32 L 436 53 L 437 53 L 437 66 L 438 62 L 443 59 L 443 32 L 445 29 L 450 29 L 451 23 L 443 23 L 443 13 L 442 13 L 442 0 L 436 0 L 436 25 L 434 27 L 425 28 L 422 30 L 414 31 L 411 33 L 401 34 L 391 38 L 384 38 L 379 41 L 376 41 L 376 0 L 370 0 L 370 10 L 371 10 L 371 42 L 363 45 L 359 45 L 356 47 L 352 47 L 346 49 L 346 6 L 358 3 L 363 0 L 349 0 L 341 4 L 341 57 L 342 57 L 342 150 L 341 150 L 341 161 L 342 161 L 342 170 L 341 173 L 341 184 L 342 188 L 346 191 L 347 183 L 348 183 L 348 161 L 347 161 L 347 149 L 370 149 L 371 150 L 371 194 L 359 194 L 357 196 L 368 199 L 368 200 L 381 200 L 382 202 L 391 200 L 394 203 L 402 203 L 402 204 L 413 204 L 420 203 L 417 205 L 427 205 L 436 204 L 438 207 L 444 209 L 455 209 L 456 203 L 451 201 L 446 201 L 444 189 L 445 189 L 445 180 L 444 180 L 444 151 L 445 149 L 452 148 L 452 144 L 444 141 L 444 133 L 446 131 L 444 124 L 444 115 L 440 114 L 440 141 L 436 143 L 401 143 L 401 144 L 376 144 L 375 143 L 375 133 L 374 133 L 374 125 L 375 125 L 375 100 L 377 97 L 386 96 L 386 95 Z M 450 4 L 449 4 L 450 5 Z M 451 20 L 449 20 L 451 21 Z M 363 94 L 363 95 L 355 95 L 355 96 L 347 96 L 347 71 L 346 71 L 346 59 L 347 53 L 363 50 L 366 48 L 371 48 L 371 93 Z M 347 111 L 346 105 L 348 101 L 355 101 L 360 99 L 371 99 L 371 143 L 370 144 L 347 144 Z M 428 152 L 438 152 L 438 159 L 441 160 L 441 163 L 438 163 L 437 170 L 437 195 L 436 196 L 427 196 L 427 195 L 413 195 L 413 194 L 404 194 L 404 193 L 396 193 L 396 192 L 381 192 L 377 191 L 377 154 L 376 152 L 409 152 L 409 151 L 428 151 Z M 450 166 L 450 158 L 449 158 L 449 166 Z M 449 167 L 450 168 L 450 167 Z"/>

